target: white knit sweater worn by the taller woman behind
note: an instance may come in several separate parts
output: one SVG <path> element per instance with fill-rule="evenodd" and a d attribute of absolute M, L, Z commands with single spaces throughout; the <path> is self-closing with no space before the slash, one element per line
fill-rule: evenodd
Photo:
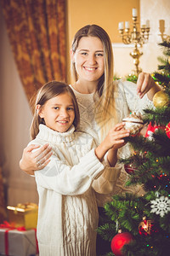
<path fill-rule="evenodd" d="M 136 93 L 136 84 L 128 82 L 127 80 L 118 80 L 115 81 L 115 84 L 116 113 L 118 122 L 122 122 L 122 119 L 127 117 L 127 114 L 130 112 L 143 113 L 144 108 L 147 108 L 153 104 L 147 95 L 144 95 L 142 99 L 139 98 Z M 96 143 L 99 144 L 99 126 L 96 124 L 94 119 L 94 93 L 81 94 L 77 92 L 77 90 L 74 90 L 72 86 L 71 89 L 74 91 L 77 97 L 77 102 L 80 109 L 80 131 L 86 131 L 91 134 L 94 137 Z M 111 116 L 111 119 L 114 121 L 114 116 Z M 131 150 L 127 144 L 123 148 L 119 149 L 118 157 L 122 158 L 129 156 L 130 153 Z M 124 166 L 122 165 L 121 175 L 116 181 L 116 187 L 114 186 L 113 191 L 108 195 L 97 196 L 100 206 L 104 205 L 106 201 L 111 201 L 111 195 L 114 194 L 129 192 L 136 195 L 142 195 L 144 193 L 144 190 L 141 189 L 141 186 L 126 187 L 125 183 L 127 182 L 127 177 L 128 174 L 125 172 Z"/>

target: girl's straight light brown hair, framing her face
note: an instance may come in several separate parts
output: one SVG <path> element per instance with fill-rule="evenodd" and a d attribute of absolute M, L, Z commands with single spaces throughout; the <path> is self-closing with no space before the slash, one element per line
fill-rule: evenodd
<path fill-rule="evenodd" d="M 38 132 L 39 132 L 39 125 L 44 124 L 44 120 L 39 116 L 37 111 L 37 105 L 42 106 L 48 102 L 48 100 L 54 98 L 54 96 L 59 96 L 61 94 L 67 93 L 69 96 L 71 96 L 74 111 L 75 111 L 75 119 L 73 121 L 73 125 L 77 129 L 77 125 L 79 125 L 80 122 L 80 114 L 77 104 L 76 96 L 71 90 L 71 87 L 68 84 L 57 82 L 57 81 L 51 81 L 47 84 L 44 84 L 38 91 L 36 97 L 33 96 L 31 98 L 31 108 L 33 112 L 33 119 L 31 122 L 31 139 L 34 139 Z"/>

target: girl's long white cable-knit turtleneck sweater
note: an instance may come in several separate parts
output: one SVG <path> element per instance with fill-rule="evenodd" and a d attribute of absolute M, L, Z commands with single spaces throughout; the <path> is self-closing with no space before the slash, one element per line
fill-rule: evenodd
<path fill-rule="evenodd" d="M 54 151 L 48 166 L 35 172 L 40 255 L 95 256 L 98 208 L 92 183 L 100 175 L 101 186 L 96 189 L 107 193 L 113 189 L 120 168 L 104 166 L 94 153 L 94 138 L 74 132 L 74 126 L 65 133 L 46 125 L 39 128 L 31 143 L 49 143 Z"/>

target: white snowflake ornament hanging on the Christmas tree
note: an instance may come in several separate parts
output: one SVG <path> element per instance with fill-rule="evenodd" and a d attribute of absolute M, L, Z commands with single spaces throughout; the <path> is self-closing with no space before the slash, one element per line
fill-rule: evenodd
<path fill-rule="evenodd" d="M 156 200 L 150 201 L 151 203 L 151 211 L 156 212 L 156 214 L 163 217 L 167 212 L 170 212 L 170 200 L 168 197 L 161 195 L 161 197 L 156 198 Z"/>

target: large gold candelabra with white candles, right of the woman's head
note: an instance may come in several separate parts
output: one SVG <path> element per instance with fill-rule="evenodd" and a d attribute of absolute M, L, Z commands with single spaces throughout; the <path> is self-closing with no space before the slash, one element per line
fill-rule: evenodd
<path fill-rule="evenodd" d="M 139 68 L 139 57 L 143 55 L 143 52 L 139 51 L 138 45 L 142 48 L 143 44 L 148 42 L 150 32 L 150 20 L 146 20 L 146 24 L 140 27 L 138 30 L 138 16 L 137 9 L 133 9 L 133 29 L 130 31 L 129 21 L 125 21 L 125 29 L 123 22 L 119 22 L 119 33 L 122 37 L 123 44 L 133 44 L 134 49 L 130 53 L 133 57 L 133 64 L 135 65 L 135 73 L 138 75 L 142 69 Z"/>

